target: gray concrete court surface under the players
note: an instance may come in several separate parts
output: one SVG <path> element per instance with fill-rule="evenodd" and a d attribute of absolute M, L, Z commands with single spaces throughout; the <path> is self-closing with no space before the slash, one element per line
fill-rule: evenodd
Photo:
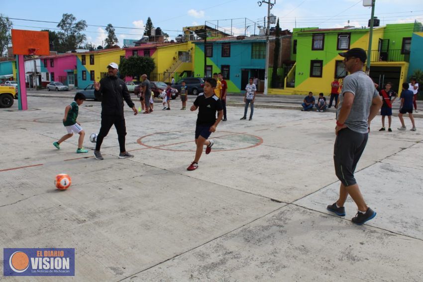
<path fill-rule="evenodd" d="M 422 281 L 421 119 L 417 132 L 397 131 L 398 118 L 392 133 L 377 131 L 380 116 L 372 123 L 356 178 L 377 216 L 357 226 L 350 199 L 345 217 L 325 209 L 339 188 L 334 113 L 256 108 L 240 121 L 243 109 L 228 107 L 211 154 L 187 171 L 197 114 L 180 101 L 149 115 L 125 107 L 135 157 L 117 158 L 112 128 L 102 161 L 76 154 L 76 136 L 52 145 L 71 101 L 29 97 L 29 111 L 0 109 L 0 249 L 75 248 L 75 277 L 1 271 L 0 280 Z M 80 107 L 90 149 L 100 111 Z M 67 191 L 53 185 L 62 172 Z"/>

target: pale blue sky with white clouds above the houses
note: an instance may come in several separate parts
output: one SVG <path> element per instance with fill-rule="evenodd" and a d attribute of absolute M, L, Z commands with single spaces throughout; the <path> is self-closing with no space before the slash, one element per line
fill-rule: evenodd
<path fill-rule="evenodd" d="M 275 2 L 271 13 L 279 17 L 282 29 L 294 27 L 333 28 L 353 25 L 367 26 L 371 7 L 362 0 L 270 0 Z M 261 1 L 260 1 L 261 2 Z M 375 16 L 380 24 L 423 22 L 422 0 L 376 0 Z M 218 27 L 233 35 L 258 34 L 264 25 L 267 4 L 257 0 L 0 0 L 0 13 L 7 16 L 15 29 L 41 30 L 57 28 L 63 13 L 72 13 L 85 20 L 87 42 L 102 45 L 105 26 L 115 27 L 118 45 L 123 39 L 140 39 L 144 24 L 150 16 L 154 27 L 160 27 L 170 39 L 182 34 L 184 26 L 204 24 Z M 25 7 L 20 9 L 19 7 Z M 31 20 L 31 21 L 30 21 Z M 218 21 L 217 21 L 218 20 Z M 97 25 L 97 26 L 92 26 Z"/>

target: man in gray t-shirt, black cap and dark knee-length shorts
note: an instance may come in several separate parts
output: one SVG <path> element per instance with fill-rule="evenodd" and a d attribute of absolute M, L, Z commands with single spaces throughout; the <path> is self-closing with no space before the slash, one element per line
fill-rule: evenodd
<path fill-rule="evenodd" d="M 344 57 L 345 69 L 350 75 L 343 81 L 333 149 L 335 173 L 341 181 L 339 198 L 327 209 L 344 216 L 344 203 L 350 195 L 358 208 L 357 215 L 351 221 L 361 225 L 374 218 L 376 212 L 366 205 L 355 181 L 354 171 L 366 147 L 369 124 L 378 114 L 382 100 L 373 81 L 363 71 L 366 52 L 361 48 L 352 48 L 339 55 Z"/>

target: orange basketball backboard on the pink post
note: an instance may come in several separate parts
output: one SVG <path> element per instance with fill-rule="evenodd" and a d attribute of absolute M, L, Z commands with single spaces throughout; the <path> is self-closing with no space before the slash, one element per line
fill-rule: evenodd
<path fill-rule="evenodd" d="M 15 55 L 50 55 L 48 31 L 12 29 L 12 48 Z"/>

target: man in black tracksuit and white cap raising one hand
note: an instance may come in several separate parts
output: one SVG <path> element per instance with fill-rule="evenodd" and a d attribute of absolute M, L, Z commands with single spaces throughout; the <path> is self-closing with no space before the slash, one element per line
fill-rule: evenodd
<path fill-rule="evenodd" d="M 117 140 L 119 141 L 120 153 L 119 158 L 133 157 L 125 149 L 125 117 L 123 115 L 123 99 L 134 115 L 138 112 L 128 92 L 125 82 L 117 77 L 118 66 L 116 63 L 110 63 L 107 66 L 108 76 L 102 78 L 100 82 L 94 81 L 94 95 L 97 99 L 102 101 L 102 127 L 97 136 L 96 149 L 94 150 L 94 157 L 96 159 L 103 159 L 100 152 L 103 139 L 107 136 L 112 125 L 116 128 Z"/>

